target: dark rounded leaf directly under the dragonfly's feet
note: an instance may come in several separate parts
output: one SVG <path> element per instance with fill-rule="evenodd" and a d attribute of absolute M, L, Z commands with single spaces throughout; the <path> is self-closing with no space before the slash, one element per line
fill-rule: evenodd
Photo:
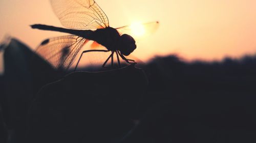
<path fill-rule="evenodd" d="M 29 112 L 29 142 L 118 142 L 134 126 L 146 84 L 133 65 L 48 84 Z"/>

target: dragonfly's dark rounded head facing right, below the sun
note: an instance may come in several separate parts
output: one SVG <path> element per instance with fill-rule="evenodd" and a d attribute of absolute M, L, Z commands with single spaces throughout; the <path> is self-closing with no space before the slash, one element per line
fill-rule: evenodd
<path fill-rule="evenodd" d="M 123 34 L 119 40 L 119 50 L 123 55 L 129 55 L 136 49 L 135 40 L 132 36 Z"/>

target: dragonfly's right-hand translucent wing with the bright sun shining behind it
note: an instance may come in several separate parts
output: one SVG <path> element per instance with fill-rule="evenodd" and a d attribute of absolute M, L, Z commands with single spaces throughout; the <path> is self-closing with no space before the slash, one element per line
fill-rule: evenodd
<path fill-rule="evenodd" d="M 159 27 L 159 22 L 147 22 L 147 23 L 134 23 L 131 25 L 122 26 L 116 28 L 117 31 L 122 34 L 128 34 L 132 36 L 136 42 L 145 39 L 147 36 L 152 35 L 156 32 L 157 28 Z"/>

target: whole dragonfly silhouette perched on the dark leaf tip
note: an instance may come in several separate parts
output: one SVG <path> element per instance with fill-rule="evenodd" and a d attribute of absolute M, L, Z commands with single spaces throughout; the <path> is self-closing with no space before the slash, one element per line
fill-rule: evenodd
<path fill-rule="evenodd" d="M 116 54 L 118 66 L 120 59 L 126 63 L 135 63 L 134 60 L 126 59 L 136 49 L 134 38 L 129 26 L 113 28 L 109 26 L 109 19 L 102 9 L 93 0 L 51 0 L 51 5 L 62 25 L 61 28 L 43 24 L 31 25 L 32 28 L 72 34 L 57 38 L 46 39 L 37 48 L 37 53 L 51 63 L 57 69 L 69 69 L 77 58 L 77 54 L 84 44 L 93 40 L 103 45 L 106 49 L 90 49 L 81 53 L 75 70 L 84 53 L 87 52 L 111 52 L 106 63 L 111 59 L 113 67 L 114 54 Z M 155 27 L 158 22 L 144 23 Z M 123 33 L 122 33 L 123 32 Z"/>

